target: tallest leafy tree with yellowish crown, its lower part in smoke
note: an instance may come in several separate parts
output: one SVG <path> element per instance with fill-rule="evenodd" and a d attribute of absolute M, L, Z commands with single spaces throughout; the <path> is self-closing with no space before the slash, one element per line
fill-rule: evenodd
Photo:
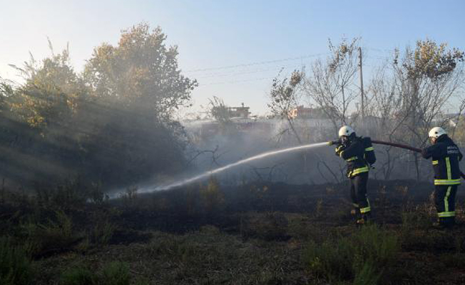
<path fill-rule="evenodd" d="M 197 83 L 181 74 L 178 49 L 165 38 L 160 28 L 138 24 L 118 46 L 98 46 L 86 65 L 93 99 L 82 119 L 93 135 L 82 145 L 88 162 L 99 162 L 98 169 L 88 165 L 96 179 L 134 183 L 183 166 L 186 140 L 173 114 L 189 105 Z"/>

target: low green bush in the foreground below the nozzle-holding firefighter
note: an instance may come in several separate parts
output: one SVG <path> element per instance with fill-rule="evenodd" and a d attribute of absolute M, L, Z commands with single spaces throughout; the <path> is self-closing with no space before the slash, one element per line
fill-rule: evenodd
<path fill-rule="evenodd" d="M 399 249 L 397 237 L 370 225 L 351 237 L 310 242 L 303 260 L 312 274 L 329 281 L 353 279 L 354 284 L 376 284 L 396 260 Z"/>

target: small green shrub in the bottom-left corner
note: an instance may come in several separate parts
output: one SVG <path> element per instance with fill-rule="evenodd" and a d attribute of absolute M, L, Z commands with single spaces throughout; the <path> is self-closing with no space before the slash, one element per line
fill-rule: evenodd
<path fill-rule="evenodd" d="M 0 284 L 29 284 L 33 276 L 31 260 L 22 247 L 14 247 L 10 240 L 0 238 Z"/>

